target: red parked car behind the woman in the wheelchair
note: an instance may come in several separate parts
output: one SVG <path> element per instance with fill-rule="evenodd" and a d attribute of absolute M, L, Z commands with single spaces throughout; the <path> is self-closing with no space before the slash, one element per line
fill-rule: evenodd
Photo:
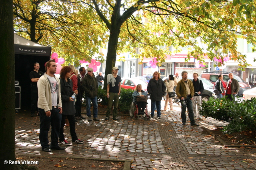
<path fill-rule="evenodd" d="M 124 88 L 124 89 L 130 88 L 134 90 L 138 84 L 141 84 L 142 90 L 148 93 L 147 91 L 148 83 L 138 78 L 122 78 L 121 88 Z"/>

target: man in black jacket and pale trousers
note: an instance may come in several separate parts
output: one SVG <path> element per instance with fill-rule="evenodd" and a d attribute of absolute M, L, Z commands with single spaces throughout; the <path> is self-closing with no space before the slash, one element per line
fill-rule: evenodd
<path fill-rule="evenodd" d="M 204 91 L 204 85 L 201 80 L 198 79 L 198 73 L 193 73 L 193 86 L 194 86 L 194 97 L 192 100 L 193 103 L 193 112 L 194 112 L 194 119 L 198 118 L 202 120 L 202 116 L 199 114 L 199 109 L 201 109 L 202 105 L 202 92 Z M 197 109 L 196 109 L 197 106 Z"/>

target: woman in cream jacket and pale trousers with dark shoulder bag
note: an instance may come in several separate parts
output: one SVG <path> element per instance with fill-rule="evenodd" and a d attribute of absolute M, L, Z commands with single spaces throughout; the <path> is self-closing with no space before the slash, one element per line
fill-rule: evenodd
<path fill-rule="evenodd" d="M 166 85 L 166 99 L 164 104 L 164 111 L 167 111 L 168 107 L 168 101 L 170 103 L 170 111 L 173 111 L 172 107 L 172 98 L 169 98 L 168 92 L 173 92 L 174 88 L 174 77 L 172 74 L 169 75 L 169 82 L 167 80 L 164 80 L 164 83 Z"/>

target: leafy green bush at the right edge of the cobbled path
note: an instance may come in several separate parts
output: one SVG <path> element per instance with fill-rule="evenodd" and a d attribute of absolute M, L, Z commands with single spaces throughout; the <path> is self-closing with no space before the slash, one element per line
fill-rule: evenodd
<path fill-rule="evenodd" d="M 227 121 L 224 133 L 256 130 L 256 99 L 242 102 L 230 101 L 226 98 L 212 99 L 203 102 L 200 115 L 212 117 L 217 120 Z"/>

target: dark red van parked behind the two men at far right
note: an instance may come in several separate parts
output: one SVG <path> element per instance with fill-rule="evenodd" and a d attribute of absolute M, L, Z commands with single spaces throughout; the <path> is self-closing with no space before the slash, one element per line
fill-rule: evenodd
<path fill-rule="evenodd" d="M 216 72 L 206 72 L 206 73 L 202 73 L 201 74 L 201 78 L 206 78 L 207 80 L 210 80 L 210 82 L 212 83 L 212 84 L 214 84 L 217 80 L 218 80 L 218 75 L 220 75 L 220 74 L 222 74 L 223 75 L 223 81 L 226 83 L 226 85 L 228 84 L 228 80 L 229 80 L 229 78 L 228 78 L 228 72 L 225 72 L 225 73 L 222 73 L 222 72 L 220 72 L 220 73 L 216 73 Z M 238 75 L 236 75 L 236 74 L 233 74 L 233 76 L 234 76 L 234 78 L 236 79 L 236 80 L 238 80 L 238 83 L 239 83 L 239 85 L 240 85 L 240 89 L 239 89 L 239 92 L 238 92 L 238 94 L 237 94 L 237 96 L 243 96 L 243 94 L 244 94 L 244 92 L 246 91 L 246 90 L 249 90 L 249 89 L 251 89 L 251 86 L 248 84 L 248 83 L 246 83 L 246 82 L 244 82 L 244 80 L 242 79 L 242 78 L 240 78 Z"/>

